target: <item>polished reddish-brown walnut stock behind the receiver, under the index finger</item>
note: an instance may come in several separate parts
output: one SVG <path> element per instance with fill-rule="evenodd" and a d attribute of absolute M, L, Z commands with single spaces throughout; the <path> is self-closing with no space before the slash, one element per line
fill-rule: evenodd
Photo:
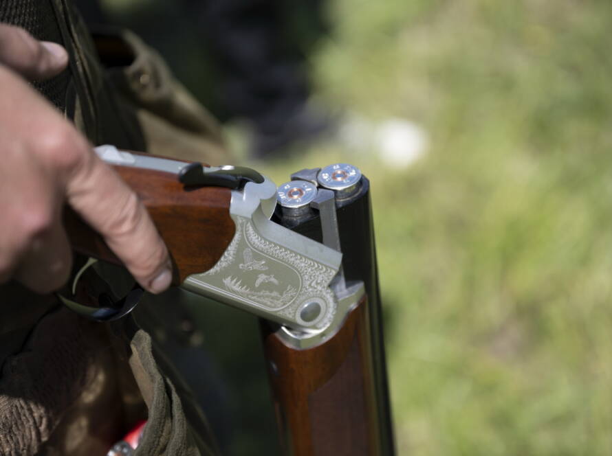
<path fill-rule="evenodd" d="M 208 271 L 217 263 L 235 231 L 229 189 L 186 189 L 176 174 L 129 166 L 113 168 L 138 194 L 166 242 L 175 266 L 174 284 L 181 284 L 190 274 Z M 68 208 L 64 223 L 76 251 L 120 264 L 102 236 Z"/>

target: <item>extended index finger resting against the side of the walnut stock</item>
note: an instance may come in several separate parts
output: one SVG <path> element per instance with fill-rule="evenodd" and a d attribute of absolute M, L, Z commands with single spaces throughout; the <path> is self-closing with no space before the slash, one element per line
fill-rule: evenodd
<path fill-rule="evenodd" d="M 160 293 L 171 283 L 168 249 L 138 196 L 93 150 L 67 181 L 69 205 L 98 231 L 146 290 Z"/>

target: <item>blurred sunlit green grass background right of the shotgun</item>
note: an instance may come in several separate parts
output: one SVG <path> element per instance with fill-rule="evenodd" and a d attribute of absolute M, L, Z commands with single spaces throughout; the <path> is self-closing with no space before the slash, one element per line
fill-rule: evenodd
<path fill-rule="evenodd" d="M 258 166 L 371 179 L 400 455 L 611 455 L 612 3 L 327 6 L 320 101 L 408 119 L 428 152 Z"/>

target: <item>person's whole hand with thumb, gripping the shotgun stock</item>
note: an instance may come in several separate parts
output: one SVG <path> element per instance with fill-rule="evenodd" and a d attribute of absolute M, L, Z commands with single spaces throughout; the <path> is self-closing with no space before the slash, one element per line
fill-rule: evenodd
<path fill-rule="evenodd" d="M 44 80 L 67 62 L 60 45 L 0 24 L 0 283 L 15 279 L 38 293 L 65 283 L 72 264 L 61 223 L 67 203 L 146 290 L 160 293 L 171 282 L 171 262 L 138 196 L 17 74 Z"/>

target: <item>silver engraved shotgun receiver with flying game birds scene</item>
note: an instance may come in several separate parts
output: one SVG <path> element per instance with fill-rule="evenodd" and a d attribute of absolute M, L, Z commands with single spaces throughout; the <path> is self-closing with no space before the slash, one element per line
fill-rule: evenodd
<path fill-rule="evenodd" d="M 329 327 L 336 297 L 329 288 L 342 254 L 272 221 L 276 185 L 269 179 L 232 191 L 234 239 L 215 266 L 183 286 L 303 332 Z M 311 303 L 320 306 L 311 318 Z M 303 318 L 303 317 L 306 318 Z"/>

